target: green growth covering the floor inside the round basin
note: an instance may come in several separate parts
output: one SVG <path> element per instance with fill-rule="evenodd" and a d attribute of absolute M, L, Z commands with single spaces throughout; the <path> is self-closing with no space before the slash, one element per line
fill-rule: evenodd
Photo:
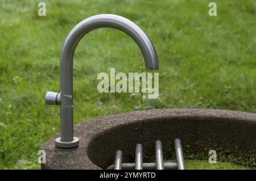
<path fill-rule="evenodd" d="M 187 159 L 185 160 L 185 167 L 188 170 L 250 170 L 248 167 L 235 165 L 229 162 L 219 162 L 210 164 L 206 160 Z"/>

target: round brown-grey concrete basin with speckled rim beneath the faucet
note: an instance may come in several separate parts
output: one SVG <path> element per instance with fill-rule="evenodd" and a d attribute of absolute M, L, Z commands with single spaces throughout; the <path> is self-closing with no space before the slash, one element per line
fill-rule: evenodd
<path fill-rule="evenodd" d="M 184 158 L 208 157 L 209 149 L 216 149 L 217 155 L 229 150 L 221 152 L 222 159 L 235 154 L 256 160 L 255 113 L 205 109 L 117 113 L 74 125 L 74 135 L 80 140 L 77 148 L 56 148 L 59 134 L 46 143 L 42 169 L 106 169 L 114 163 L 118 149 L 123 151 L 123 162 L 134 162 L 137 143 L 143 145 L 143 162 L 150 162 L 155 157 L 156 140 L 162 141 L 168 159 L 175 154 L 175 138 L 181 139 Z"/>

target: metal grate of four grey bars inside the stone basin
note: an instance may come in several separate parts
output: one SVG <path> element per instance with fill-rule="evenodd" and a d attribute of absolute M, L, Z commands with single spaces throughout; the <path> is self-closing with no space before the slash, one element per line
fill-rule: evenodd
<path fill-rule="evenodd" d="M 164 162 L 163 161 L 163 149 L 162 142 L 157 140 L 155 142 L 155 157 L 156 163 L 143 163 L 142 161 L 142 145 L 137 144 L 135 150 L 135 163 L 122 163 L 122 151 L 117 150 L 115 153 L 115 163 L 110 165 L 107 170 L 185 170 L 184 158 L 182 153 L 181 141 L 179 138 L 174 140 L 175 144 L 175 152 L 176 152 L 176 160 L 175 162 Z"/>

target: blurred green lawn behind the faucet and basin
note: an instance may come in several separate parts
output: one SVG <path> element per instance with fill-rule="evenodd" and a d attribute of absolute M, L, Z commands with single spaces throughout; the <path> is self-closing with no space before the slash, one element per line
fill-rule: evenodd
<path fill-rule="evenodd" d="M 97 74 L 139 72 L 142 54 L 127 35 L 108 28 L 79 43 L 74 62 L 75 123 L 147 108 L 218 108 L 256 112 L 254 0 L 0 1 L 0 169 L 39 169 L 38 150 L 59 132 L 59 56 L 68 32 L 82 19 L 118 14 L 147 33 L 159 56 L 156 100 L 142 94 L 100 94 Z M 100 104 L 97 104 L 99 103 Z"/>

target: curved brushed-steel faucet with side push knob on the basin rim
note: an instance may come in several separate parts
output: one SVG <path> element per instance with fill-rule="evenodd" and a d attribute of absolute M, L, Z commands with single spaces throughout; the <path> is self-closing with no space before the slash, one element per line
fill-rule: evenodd
<path fill-rule="evenodd" d="M 154 45 L 135 23 L 112 14 L 91 16 L 77 24 L 64 41 L 60 56 L 60 93 L 47 92 L 46 104 L 60 105 L 60 137 L 55 145 L 59 148 L 73 148 L 79 145 L 79 139 L 73 137 L 73 57 L 79 41 L 88 32 L 97 28 L 114 28 L 125 32 L 142 51 L 146 69 L 158 69 L 158 56 Z"/>

